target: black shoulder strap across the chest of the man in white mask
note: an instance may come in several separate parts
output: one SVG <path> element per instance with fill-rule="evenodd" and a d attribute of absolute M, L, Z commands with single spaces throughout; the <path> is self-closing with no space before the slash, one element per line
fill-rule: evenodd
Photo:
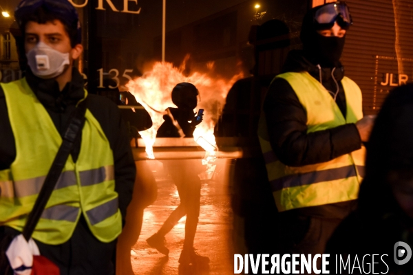
<path fill-rule="evenodd" d="M 86 104 L 87 98 L 78 104 L 78 107 L 76 107 L 74 111 L 72 120 L 70 120 L 70 124 L 67 126 L 65 135 L 63 136 L 63 142 L 56 154 L 56 157 L 54 157 L 52 167 L 45 178 L 39 197 L 37 197 L 33 210 L 30 212 L 28 220 L 25 223 L 23 236 L 26 240 L 29 240 L 32 236 L 34 228 L 36 228 L 47 201 L 49 201 L 50 195 L 52 195 L 54 186 L 56 186 L 56 182 L 58 181 L 63 167 L 66 164 L 67 157 L 69 157 L 70 151 L 72 151 L 73 144 L 79 133 L 81 133 L 81 129 L 83 129 L 83 124 L 85 123 Z"/>

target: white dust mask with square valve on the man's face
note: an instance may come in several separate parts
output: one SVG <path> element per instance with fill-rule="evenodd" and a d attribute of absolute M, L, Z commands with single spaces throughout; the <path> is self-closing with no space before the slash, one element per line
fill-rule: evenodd
<path fill-rule="evenodd" d="M 43 42 L 37 43 L 26 56 L 28 64 L 35 76 L 39 78 L 55 78 L 70 65 L 69 53 L 61 53 Z"/>

